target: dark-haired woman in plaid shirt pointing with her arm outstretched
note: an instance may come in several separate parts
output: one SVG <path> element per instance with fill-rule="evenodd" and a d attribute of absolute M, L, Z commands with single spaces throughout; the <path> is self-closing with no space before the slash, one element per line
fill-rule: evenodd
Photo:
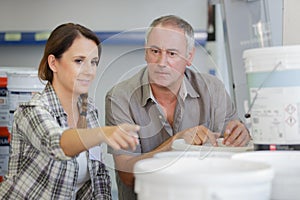
<path fill-rule="evenodd" d="M 139 127 L 98 126 L 87 92 L 100 54 L 99 39 L 81 25 L 62 24 L 51 33 L 39 66 L 48 83 L 14 115 L 3 199 L 111 199 L 99 144 L 135 149 Z"/>

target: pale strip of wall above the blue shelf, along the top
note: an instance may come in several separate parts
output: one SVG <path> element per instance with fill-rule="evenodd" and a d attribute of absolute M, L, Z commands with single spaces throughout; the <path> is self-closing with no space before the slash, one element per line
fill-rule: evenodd
<path fill-rule="evenodd" d="M 49 30 L 77 22 L 95 31 L 126 30 L 149 25 L 164 14 L 178 14 L 195 28 L 206 28 L 205 0 L 3 0 L 0 31 Z"/>

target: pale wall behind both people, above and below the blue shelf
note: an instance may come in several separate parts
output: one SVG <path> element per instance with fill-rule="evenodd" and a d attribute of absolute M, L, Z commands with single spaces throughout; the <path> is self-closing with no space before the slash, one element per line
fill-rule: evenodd
<path fill-rule="evenodd" d="M 195 30 L 205 30 L 207 2 L 205 0 L 6 0 L 0 6 L 0 32 L 51 31 L 64 22 L 86 25 L 94 31 L 123 31 L 144 28 L 161 15 L 176 14 L 192 24 Z M 5 20 L 4 20 L 5 19 Z M 0 45 L 0 66 L 38 67 L 44 45 Z M 136 50 L 139 49 L 139 50 Z M 201 71 L 213 68 L 206 52 L 198 48 L 194 65 Z M 209 63 L 207 66 L 206 63 Z M 136 66 L 143 65 L 142 46 L 103 45 L 98 77 L 92 88 L 103 113 L 103 94 L 120 77 Z M 100 100 L 101 99 L 101 100 Z"/>

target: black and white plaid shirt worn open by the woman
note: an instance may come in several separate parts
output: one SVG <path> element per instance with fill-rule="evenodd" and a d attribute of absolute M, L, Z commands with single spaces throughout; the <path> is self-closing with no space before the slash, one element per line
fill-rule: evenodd
<path fill-rule="evenodd" d="M 97 127 L 97 110 L 89 99 L 88 127 Z M 68 128 L 51 84 L 19 106 L 14 115 L 9 172 L 0 183 L 0 199 L 111 199 L 111 182 L 105 165 L 88 159 L 91 180 L 75 193 L 79 165 L 60 147 Z M 89 152 L 87 151 L 89 157 Z"/>

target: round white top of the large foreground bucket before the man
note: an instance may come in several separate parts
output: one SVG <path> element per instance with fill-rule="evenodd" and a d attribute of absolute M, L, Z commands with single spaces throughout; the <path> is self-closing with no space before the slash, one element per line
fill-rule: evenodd
<path fill-rule="evenodd" d="M 273 178 L 269 164 L 254 161 L 231 160 L 229 158 L 148 158 L 134 166 L 136 179 L 157 182 L 158 184 L 230 184 L 260 182 Z M 262 179 L 258 180 L 257 177 Z M 264 178 L 263 178 L 264 177 Z M 245 181 L 244 184 L 247 184 Z"/>

